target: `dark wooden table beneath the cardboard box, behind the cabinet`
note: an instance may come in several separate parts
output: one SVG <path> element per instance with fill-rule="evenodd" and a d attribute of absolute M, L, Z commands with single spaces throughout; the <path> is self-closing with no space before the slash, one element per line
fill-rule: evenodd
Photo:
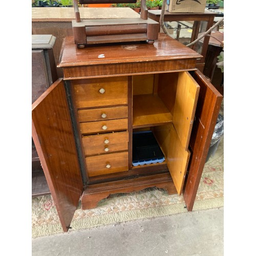
<path fill-rule="evenodd" d="M 161 10 L 148 10 L 148 17 L 159 22 Z M 164 12 L 164 22 L 194 22 L 190 42 L 198 38 L 198 34 L 207 31 L 214 24 L 216 13 L 205 10 L 202 13 L 170 13 Z M 182 41 L 182 38 L 175 38 Z M 202 48 L 197 49 L 197 44 L 191 46 L 191 49 L 198 51 L 203 57 L 198 59 L 197 68 L 203 72 L 206 52 L 208 48 L 209 38 L 205 38 Z"/>

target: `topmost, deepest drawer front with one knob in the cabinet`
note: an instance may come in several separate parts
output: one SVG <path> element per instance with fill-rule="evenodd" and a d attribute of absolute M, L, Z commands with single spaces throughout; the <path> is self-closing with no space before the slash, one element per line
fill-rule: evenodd
<path fill-rule="evenodd" d="M 73 81 L 77 108 L 127 104 L 127 77 Z"/>

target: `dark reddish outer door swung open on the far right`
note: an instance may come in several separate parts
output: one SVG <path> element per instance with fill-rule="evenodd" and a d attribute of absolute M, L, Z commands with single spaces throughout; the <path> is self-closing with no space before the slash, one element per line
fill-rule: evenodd
<path fill-rule="evenodd" d="M 214 133 L 223 99 L 223 96 L 200 71 L 196 71 L 193 77 L 200 86 L 200 92 L 189 141 L 191 157 L 183 190 L 183 197 L 188 211 L 191 211 L 194 206 L 211 137 Z"/>

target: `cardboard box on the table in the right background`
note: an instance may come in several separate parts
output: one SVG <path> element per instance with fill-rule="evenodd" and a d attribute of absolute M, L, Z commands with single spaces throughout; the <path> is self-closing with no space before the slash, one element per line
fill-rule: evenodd
<path fill-rule="evenodd" d="M 204 12 L 206 0 L 167 0 L 168 12 Z"/>

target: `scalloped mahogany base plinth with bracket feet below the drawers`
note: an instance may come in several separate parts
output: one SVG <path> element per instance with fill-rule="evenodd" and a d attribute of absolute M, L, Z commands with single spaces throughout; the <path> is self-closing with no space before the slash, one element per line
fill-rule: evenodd
<path fill-rule="evenodd" d="M 93 184 L 84 189 L 81 197 L 81 209 L 96 208 L 100 200 L 112 194 L 132 193 L 147 187 L 166 189 L 169 195 L 177 194 L 177 190 L 169 173 L 105 182 L 103 185 L 102 183 Z"/>

